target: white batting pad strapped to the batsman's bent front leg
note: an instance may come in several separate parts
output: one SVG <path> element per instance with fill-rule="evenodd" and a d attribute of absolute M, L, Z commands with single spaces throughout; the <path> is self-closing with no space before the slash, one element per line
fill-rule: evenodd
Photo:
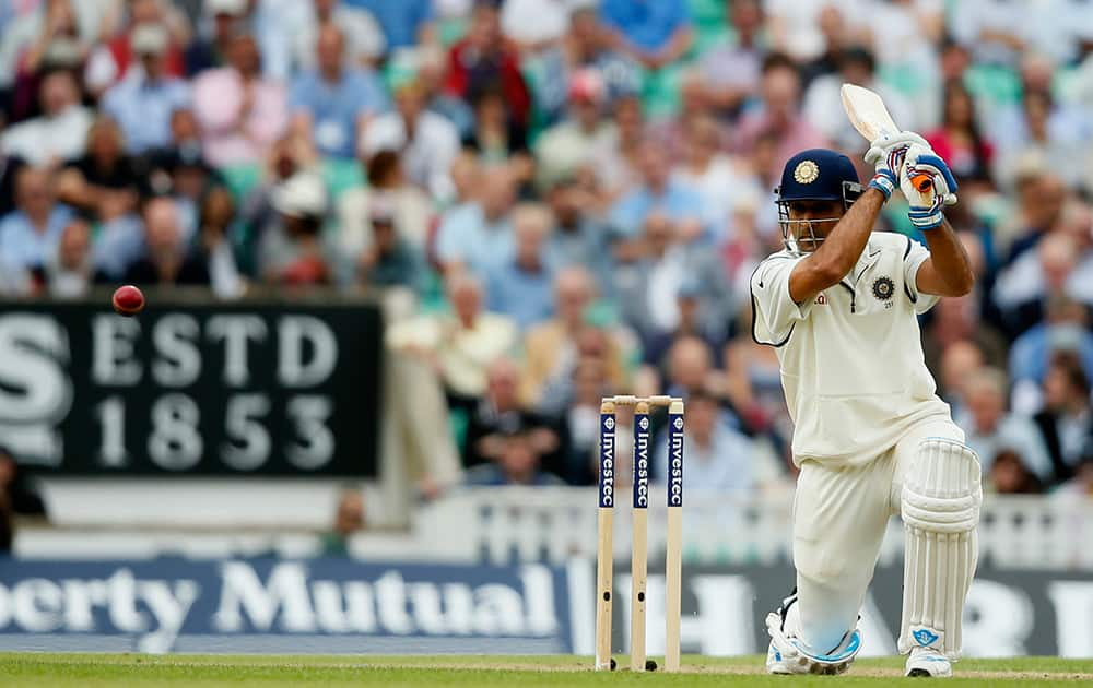
<path fill-rule="evenodd" d="M 960 659 L 961 615 L 975 576 L 979 461 L 962 442 L 928 438 L 904 476 L 906 532 L 900 652 L 933 648 Z"/>

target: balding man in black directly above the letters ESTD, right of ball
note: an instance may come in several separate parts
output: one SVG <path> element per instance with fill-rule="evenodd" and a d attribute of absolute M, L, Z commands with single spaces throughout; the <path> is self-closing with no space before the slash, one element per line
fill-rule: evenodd
<path fill-rule="evenodd" d="M 148 252 L 126 270 L 125 281 L 142 287 L 208 287 L 209 263 L 183 241 L 175 201 L 151 199 L 144 204 L 142 218 Z"/>

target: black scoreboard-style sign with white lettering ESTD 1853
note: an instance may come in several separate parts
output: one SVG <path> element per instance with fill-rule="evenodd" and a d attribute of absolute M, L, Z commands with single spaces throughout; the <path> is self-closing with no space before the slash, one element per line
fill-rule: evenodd
<path fill-rule="evenodd" d="M 375 472 L 372 304 L 0 311 L 0 442 L 66 473 Z"/>

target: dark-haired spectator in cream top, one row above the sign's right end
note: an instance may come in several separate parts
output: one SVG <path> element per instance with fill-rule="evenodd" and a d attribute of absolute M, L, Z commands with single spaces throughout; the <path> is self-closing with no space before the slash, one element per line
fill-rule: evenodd
<path fill-rule="evenodd" d="M 346 256 L 360 256 L 372 245 L 372 213 L 375 201 L 388 207 L 399 244 L 424 254 L 433 223 L 432 199 L 407 181 L 402 161 L 393 151 L 379 151 L 364 164 L 367 187 L 354 187 L 338 199 L 339 241 Z M 386 211 L 385 211 L 386 212 Z"/>

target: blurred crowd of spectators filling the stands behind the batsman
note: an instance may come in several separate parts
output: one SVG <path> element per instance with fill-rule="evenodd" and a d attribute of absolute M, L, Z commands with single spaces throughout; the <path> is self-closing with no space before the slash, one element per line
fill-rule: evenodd
<path fill-rule="evenodd" d="M 1091 494 L 1091 50 L 1081 0 L 9 0 L 0 294 L 375 295 L 424 496 L 592 483 L 611 393 L 687 398 L 687 489 L 779 489 L 747 284 L 850 82 L 960 181 L 922 336 L 989 486 Z"/>

